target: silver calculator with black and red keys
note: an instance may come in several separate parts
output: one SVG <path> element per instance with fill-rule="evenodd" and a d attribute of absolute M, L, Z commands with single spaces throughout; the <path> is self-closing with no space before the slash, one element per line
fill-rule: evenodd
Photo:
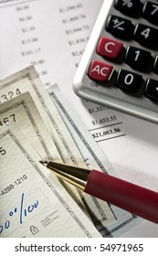
<path fill-rule="evenodd" d="M 73 89 L 158 123 L 158 1 L 104 0 Z"/>

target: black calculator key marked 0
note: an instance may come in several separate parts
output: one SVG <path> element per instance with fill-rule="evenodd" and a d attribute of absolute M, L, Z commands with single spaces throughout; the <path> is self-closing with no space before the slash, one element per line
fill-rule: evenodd
<path fill-rule="evenodd" d="M 142 84 L 142 76 L 131 71 L 120 69 L 116 86 L 122 91 L 136 92 Z"/>

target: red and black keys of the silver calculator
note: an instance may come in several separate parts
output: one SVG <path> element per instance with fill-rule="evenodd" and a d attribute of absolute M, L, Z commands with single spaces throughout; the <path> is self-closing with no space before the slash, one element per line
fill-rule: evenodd
<path fill-rule="evenodd" d="M 134 16 L 135 12 L 137 13 L 138 16 L 139 10 L 139 16 L 143 16 L 145 19 L 148 19 L 153 23 L 156 23 L 156 20 L 158 20 L 158 5 L 155 5 L 153 3 L 145 2 L 144 5 L 142 5 L 142 2 L 137 0 L 117 0 L 114 4 L 115 8 L 121 11 L 121 13 L 125 14 L 127 17 Z M 105 30 L 107 30 L 114 37 L 119 37 L 121 39 L 126 40 L 123 61 L 129 67 L 136 71 L 144 71 L 147 73 L 151 72 L 152 70 L 155 73 L 158 72 L 158 57 L 155 59 L 153 63 L 153 56 L 152 53 L 150 52 L 150 48 L 158 48 L 158 29 L 156 29 L 155 27 L 143 25 L 141 23 L 133 24 L 131 19 L 124 18 L 122 16 L 110 15 L 107 19 Z M 132 40 L 138 42 L 140 47 L 133 47 L 131 45 Z M 111 37 L 100 37 L 100 41 L 96 48 L 96 52 L 100 56 L 104 57 L 105 60 L 117 59 L 121 53 L 122 48 L 124 48 L 124 45 L 121 41 L 113 39 Z M 141 46 L 149 49 L 143 49 Z M 92 63 L 93 62 L 96 62 L 96 60 L 93 60 Z M 107 67 L 107 63 L 103 63 L 104 62 L 101 62 L 100 70 L 97 70 L 96 68 L 94 69 L 93 65 L 91 64 L 89 72 L 91 79 L 98 81 L 106 81 L 110 78 L 111 72 L 109 72 L 109 68 L 104 67 L 105 65 Z M 91 69 L 93 69 L 93 72 L 91 71 Z M 96 73 L 95 76 L 94 70 Z M 104 75 L 105 70 L 106 76 Z M 142 80 L 142 74 L 132 72 L 132 70 L 129 71 L 128 69 L 119 69 L 117 72 L 115 84 L 116 87 L 121 89 L 122 91 L 135 93 L 139 91 L 140 87 L 142 86 Z M 155 94 L 154 97 L 153 93 Z M 146 82 L 144 96 L 150 98 L 153 101 L 158 101 L 158 93 L 155 90 L 155 85 L 153 85 L 153 80 L 148 80 Z"/>

